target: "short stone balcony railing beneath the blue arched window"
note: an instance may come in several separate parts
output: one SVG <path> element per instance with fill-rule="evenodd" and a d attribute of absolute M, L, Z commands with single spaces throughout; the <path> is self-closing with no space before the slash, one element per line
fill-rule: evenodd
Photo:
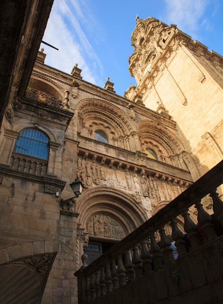
<path fill-rule="evenodd" d="M 13 153 L 10 167 L 21 173 L 29 173 L 37 176 L 44 176 L 47 173 L 48 160 L 37 159 L 32 156 Z"/>

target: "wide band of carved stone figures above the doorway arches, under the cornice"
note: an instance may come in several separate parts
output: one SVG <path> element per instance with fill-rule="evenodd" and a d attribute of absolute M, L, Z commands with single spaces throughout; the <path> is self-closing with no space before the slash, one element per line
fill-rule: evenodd
<path fill-rule="evenodd" d="M 78 156 L 77 177 L 88 187 L 106 186 L 121 189 L 130 194 L 137 203 L 141 203 L 145 213 L 161 201 L 172 201 L 188 186 L 188 183 L 165 175 L 146 174 L 145 169 L 134 167 L 122 162 L 115 163 L 105 157 L 96 161 L 97 155 L 90 159 L 88 153 Z"/>

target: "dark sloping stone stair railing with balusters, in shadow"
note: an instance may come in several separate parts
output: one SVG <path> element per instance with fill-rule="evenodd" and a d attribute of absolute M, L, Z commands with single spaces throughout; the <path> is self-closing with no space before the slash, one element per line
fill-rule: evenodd
<path fill-rule="evenodd" d="M 209 273 L 211 271 L 218 271 L 219 265 L 223 264 L 223 238 L 220 236 L 222 231 L 219 232 L 217 229 L 219 224 L 221 227 L 220 230 L 222 229 L 221 224 L 223 225 L 223 202 L 216 193 L 216 188 L 222 184 L 223 161 L 89 266 L 87 266 L 87 255 L 83 254 L 81 257 L 83 266 L 75 273 L 75 276 L 78 277 L 79 304 L 130 304 L 150 303 L 151 301 L 151 303 L 157 303 L 160 299 L 169 299 L 171 296 L 174 297 L 177 295 L 181 297 L 183 289 L 187 293 L 189 291 L 193 292 L 194 289 L 198 288 L 196 286 L 199 286 L 200 283 L 198 281 L 200 279 L 198 279 L 199 276 L 195 272 L 197 271 L 197 265 L 199 264 L 199 267 L 202 265 L 202 258 L 205 261 L 205 265 L 200 267 L 202 270 L 199 271 L 203 271 L 202 274 L 200 273 L 201 278 L 205 277 L 206 281 L 203 282 L 202 279 L 202 281 L 200 281 L 200 287 L 203 288 L 206 284 L 208 288 L 211 288 L 218 280 L 219 275 L 218 273 L 212 275 L 212 278 L 208 281 L 208 271 Z M 217 220 L 214 220 L 201 204 L 201 199 L 208 194 L 212 198 L 214 216 Z M 197 210 L 197 221 L 199 225 L 191 220 L 188 212 L 189 208 L 193 205 Z M 181 222 L 181 224 L 183 223 L 184 232 L 179 229 L 179 222 Z M 172 226 L 172 239 L 175 240 L 175 246 L 178 252 L 176 260 L 170 247 L 171 241 L 166 236 L 164 230 L 164 226 L 167 223 L 170 223 Z M 157 232 L 159 232 L 160 235 L 159 244 L 156 239 Z M 215 244 L 213 245 L 214 242 Z M 204 248 L 209 250 L 209 252 L 207 253 L 206 251 L 206 253 L 202 255 Z M 210 248 L 214 248 L 211 255 Z M 216 254 L 216 257 L 213 257 L 213 254 Z M 208 258 L 211 259 L 210 262 Z M 190 266 L 186 265 L 187 260 Z M 172 270 L 170 271 L 171 265 Z M 182 270 L 181 276 L 184 278 L 180 279 L 181 285 L 178 282 L 178 284 L 173 286 L 173 280 L 177 282 L 180 276 L 180 273 L 173 265 L 178 265 L 177 267 Z M 207 269 L 207 265 L 209 265 L 209 269 Z M 217 270 L 215 265 L 218 265 Z M 191 267 L 190 274 L 186 273 L 189 267 Z M 213 270 L 214 268 L 215 270 Z M 193 276 L 191 273 L 193 271 L 195 276 L 193 283 L 191 283 L 191 277 Z M 186 276 L 188 277 L 186 278 Z M 223 277 L 223 268 L 221 268 L 221 277 Z M 157 280 L 160 280 L 160 282 L 157 282 Z M 190 281 L 190 287 L 187 280 L 188 282 Z M 170 281 L 172 281 L 173 284 L 167 287 L 166 285 L 170 284 L 168 283 Z M 162 285 L 165 285 L 165 287 Z M 127 286 L 129 286 L 128 289 Z M 151 294 L 149 294 L 149 288 Z M 177 288 L 179 289 L 178 294 Z M 161 289 L 162 291 L 160 291 Z M 155 297 L 155 294 L 161 297 L 162 292 L 165 292 L 166 298 L 164 296 L 163 298 L 157 296 L 156 300 L 154 300 L 154 298 L 153 300 L 151 299 L 151 297 Z M 197 290 L 195 290 L 195 292 L 197 292 Z M 214 292 L 211 291 L 208 295 L 210 295 L 210 293 L 213 295 Z M 144 301 L 141 302 L 139 298 L 137 300 L 136 294 L 138 294 L 138 297 L 143 295 Z M 187 300 L 188 299 L 190 298 L 187 298 Z M 177 300 L 180 301 L 180 298 L 177 298 Z M 208 301 L 214 300 L 207 300 L 207 302 L 200 303 L 216 303 Z"/>

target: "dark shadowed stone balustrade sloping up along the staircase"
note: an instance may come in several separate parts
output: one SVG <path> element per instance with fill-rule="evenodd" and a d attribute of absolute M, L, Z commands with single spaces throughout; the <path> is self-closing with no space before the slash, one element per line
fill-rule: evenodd
<path fill-rule="evenodd" d="M 218 230 L 215 229 L 215 222 L 205 211 L 201 203 L 201 199 L 209 194 L 213 201 L 214 217 L 216 217 L 218 223 L 220 222 L 223 225 L 223 202 L 216 192 L 216 188 L 222 184 L 223 161 L 90 265 L 87 265 L 87 255 L 83 254 L 81 257 L 83 266 L 75 273 L 75 276 L 78 277 L 79 304 L 150 303 L 148 301 L 149 298 L 146 298 L 145 294 L 146 288 L 149 288 L 146 286 L 151 286 L 155 280 L 151 279 L 151 275 L 158 272 L 160 274 L 161 270 L 173 265 L 173 263 L 178 263 L 178 261 L 182 261 L 183 263 L 185 259 L 190 258 L 191 255 L 197 252 L 201 254 L 200 252 L 203 247 L 208 249 L 211 246 L 210 244 L 216 239 L 222 239 L 222 237 L 219 236 Z M 197 210 L 197 222 L 200 225 L 203 235 L 205 235 L 205 239 L 202 239 L 198 233 L 198 224 L 191 220 L 189 212 L 191 206 L 194 206 Z M 181 231 L 182 228 L 179 229 L 179 222 L 183 223 L 184 232 Z M 172 227 L 172 239 L 175 241 L 178 252 L 176 260 L 170 247 L 171 241 L 168 236 L 166 236 L 164 229 L 167 223 L 170 223 Z M 157 242 L 158 232 L 159 244 Z M 218 244 L 220 244 L 220 241 Z M 222 245 L 223 244 L 221 244 L 221 246 Z M 221 249 L 221 246 L 218 248 Z M 220 249 L 218 249 L 218 251 Z M 213 253 L 217 254 L 218 252 L 215 249 Z M 204 255 L 203 258 L 204 257 L 206 257 L 206 255 Z M 223 259 L 221 254 L 218 258 Z M 199 256 L 199 260 L 197 258 L 197 263 L 200 263 L 200 259 L 201 256 Z M 220 261 L 220 264 L 222 264 L 222 262 Z M 182 263 L 181 266 L 179 264 L 179 269 L 182 268 Z M 211 267 L 211 265 L 209 265 L 209 267 Z M 173 270 L 172 279 L 177 281 L 178 276 L 178 270 Z M 150 278 L 150 280 L 148 280 L 148 278 Z M 160 278 L 162 277 L 160 276 Z M 214 279 L 216 282 L 218 277 Z M 128 293 L 133 292 L 132 290 L 138 290 L 139 292 L 139 288 L 141 287 L 139 287 L 137 282 L 141 282 L 141 285 L 145 286 L 143 297 L 147 300 L 144 302 L 131 301 L 129 300 L 127 292 L 125 297 L 128 298 L 128 300 L 121 299 L 124 297 L 121 290 L 124 290 L 127 285 L 130 286 Z M 138 284 L 138 289 L 134 287 L 134 283 L 136 285 Z M 196 283 L 194 284 L 196 285 Z M 210 282 L 206 282 L 206 284 L 211 285 Z M 194 287 L 187 288 L 188 291 L 190 288 L 191 290 L 194 289 Z M 171 292 L 169 288 L 166 289 L 168 289 L 168 292 Z M 154 290 L 154 292 L 156 293 L 158 290 Z M 167 297 L 170 297 L 170 294 L 168 294 Z M 156 301 L 152 303 L 156 303 Z"/>

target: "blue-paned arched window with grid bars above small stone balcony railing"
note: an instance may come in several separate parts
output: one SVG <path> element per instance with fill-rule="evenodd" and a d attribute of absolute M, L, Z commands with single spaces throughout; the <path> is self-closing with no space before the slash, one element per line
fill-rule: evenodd
<path fill-rule="evenodd" d="M 16 140 L 14 151 L 38 158 L 48 159 L 48 137 L 35 129 L 24 129 Z"/>

